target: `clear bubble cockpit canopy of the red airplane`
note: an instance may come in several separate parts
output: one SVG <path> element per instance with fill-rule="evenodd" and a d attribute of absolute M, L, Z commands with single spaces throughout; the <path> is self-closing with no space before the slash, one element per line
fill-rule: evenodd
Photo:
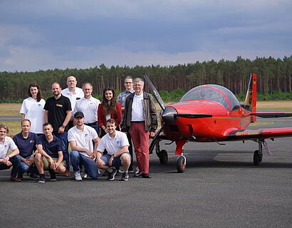
<path fill-rule="evenodd" d="M 189 90 L 180 101 L 185 100 L 212 100 L 224 106 L 227 110 L 239 108 L 239 100 L 228 89 L 219 85 L 197 86 Z"/>

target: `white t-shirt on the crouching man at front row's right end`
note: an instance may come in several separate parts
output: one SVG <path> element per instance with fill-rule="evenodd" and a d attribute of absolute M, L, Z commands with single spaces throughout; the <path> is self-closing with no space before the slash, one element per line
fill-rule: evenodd
<path fill-rule="evenodd" d="M 127 135 L 116 130 L 115 138 L 111 138 L 109 133 L 103 136 L 98 144 L 98 151 L 104 152 L 107 150 L 108 155 L 115 155 L 115 153 L 125 145 L 130 146 L 129 141 L 127 140 Z"/>

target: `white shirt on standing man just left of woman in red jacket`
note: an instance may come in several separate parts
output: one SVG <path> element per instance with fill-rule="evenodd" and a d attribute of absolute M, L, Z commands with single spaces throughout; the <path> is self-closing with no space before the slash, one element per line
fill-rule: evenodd
<path fill-rule="evenodd" d="M 84 114 L 84 123 L 94 123 L 98 121 L 98 105 L 100 100 L 91 97 L 90 99 L 81 98 L 77 100 L 73 114 L 78 111 L 83 112 Z"/>

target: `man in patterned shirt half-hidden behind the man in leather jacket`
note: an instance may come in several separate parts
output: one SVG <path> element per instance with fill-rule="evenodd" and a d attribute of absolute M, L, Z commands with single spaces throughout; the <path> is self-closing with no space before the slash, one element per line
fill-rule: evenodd
<path fill-rule="evenodd" d="M 133 86 L 132 77 L 127 76 L 125 78 L 124 86 L 125 86 L 126 90 L 118 95 L 118 100 L 117 100 L 118 103 L 122 104 L 122 114 L 125 111 L 125 101 L 126 101 L 127 96 L 135 92 L 135 90 L 132 88 L 132 86 Z M 127 140 L 129 141 L 129 144 L 130 144 L 130 146 L 129 146 L 130 155 L 131 155 L 131 157 L 133 157 L 132 156 L 132 138 L 131 138 L 131 135 L 128 131 L 127 131 Z M 129 172 L 132 172 L 132 171 L 133 171 L 133 168 L 132 168 L 132 160 L 131 160 Z"/>

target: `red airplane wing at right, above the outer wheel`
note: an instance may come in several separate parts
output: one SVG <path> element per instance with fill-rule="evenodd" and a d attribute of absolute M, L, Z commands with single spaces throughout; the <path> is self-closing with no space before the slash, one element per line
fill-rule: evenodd
<path fill-rule="evenodd" d="M 256 138 L 281 138 L 292 137 L 292 128 L 259 128 L 234 130 L 226 135 L 226 141 L 229 140 L 252 140 Z"/>

